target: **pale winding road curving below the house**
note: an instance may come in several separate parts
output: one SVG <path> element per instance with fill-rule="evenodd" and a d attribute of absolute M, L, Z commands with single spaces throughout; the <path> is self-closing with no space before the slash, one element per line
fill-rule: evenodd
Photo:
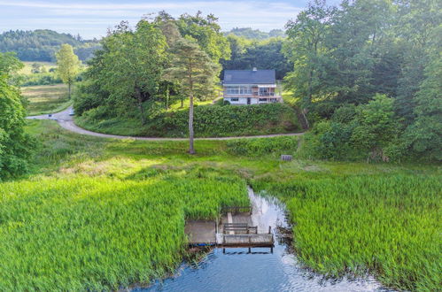
<path fill-rule="evenodd" d="M 53 119 L 58 122 L 60 127 L 65 128 L 68 131 L 77 133 L 77 134 L 88 134 L 90 136 L 102 137 L 102 138 L 113 138 L 113 139 L 135 139 L 135 140 L 143 140 L 143 141 L 187 141 L 189 138 L 159 138 L 159 137 L 136 137 L 136 136 L 124 136 L 118 134 L 103 134 L 88 131 L 81 127 L 78 127 L 74 124 L 74 119 L 69 115 L 69 112 L 72 111 L 72 107 L 69 107 L 65 111 L 60 111 L 57 113 L 53 113 L 50 115 L 43 114 L 39 116 L 30 116 L 27 119 Z M 233 139 L 247 139 L 247 138 L 269 138 L 269 137 L 277 137 L 277 136 L 296 136 L 304 133 L 291 133 L 291 134 L 262 134 L 256 136 L 233 136 L 233 137 L 209 137 L 209 138 L 195 138 L 195 140 L 233 140 Z"/>

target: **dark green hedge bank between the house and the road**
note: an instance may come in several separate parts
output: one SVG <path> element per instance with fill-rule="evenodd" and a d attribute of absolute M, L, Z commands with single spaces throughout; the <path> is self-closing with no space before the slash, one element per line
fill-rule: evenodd
<path fill-rule="evenodd" d="M 139 127 L 135 119 L 112 119 L 104 108 L 97 108 L 86 111 L 76 123 L 106 134 L 186 137 L 188 119 L 189 110 L 167 111 Z M 295 112 L 286 104 L 196 106 L 194 127 L 197 137 L 292 133 L 300 129 Z"/>

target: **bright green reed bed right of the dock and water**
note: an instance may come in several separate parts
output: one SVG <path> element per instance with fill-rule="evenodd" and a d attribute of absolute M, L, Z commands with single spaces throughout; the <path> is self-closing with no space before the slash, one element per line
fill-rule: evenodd
<path fill-rule="evenodd" d="M 372 273 L 386 286 L 440 289 L 442 181 L 356 175 L 257 182 L 290 211 L 300 259 L 330 277 Z"/>

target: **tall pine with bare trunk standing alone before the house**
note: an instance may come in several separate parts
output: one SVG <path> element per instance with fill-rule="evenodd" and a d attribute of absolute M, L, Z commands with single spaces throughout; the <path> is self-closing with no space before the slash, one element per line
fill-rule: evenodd
<path fill-rule="evenodd" d="M 179 82 L 182 92 L 189 96 L 189 153 L 195 154 L 193 145 L 193 101 L 194 97 L 205 96 L 213 91 L 214 81 L 220 68 L 190 38 L 179 40 L 174 45 L 172 67 L 168 68 L 165 78 Z"/>

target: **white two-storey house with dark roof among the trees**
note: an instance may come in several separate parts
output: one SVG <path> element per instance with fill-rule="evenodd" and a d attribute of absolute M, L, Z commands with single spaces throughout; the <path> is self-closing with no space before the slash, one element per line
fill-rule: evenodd
<path fill-rule="evenodd" d="M 224 71 L 224 101 L 230 104 L 282 103 L 276 88 L 275 70 Z"/>

